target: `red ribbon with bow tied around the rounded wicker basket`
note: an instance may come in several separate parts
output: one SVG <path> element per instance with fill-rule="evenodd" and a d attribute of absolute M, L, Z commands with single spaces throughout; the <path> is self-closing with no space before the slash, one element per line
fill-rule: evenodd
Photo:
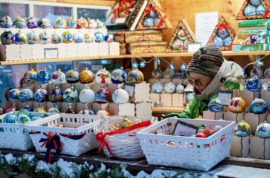
<path fill-rule="evenodd" d="M 105 134 L 103 134 L 102 131 L 101 132 L 98 132 L 96 134 L 96 140 L 97 140 L 97 142 L 100 142 L 98 153 L 101 152 L 102 147 L 106 147 L 107 150 L 109 151 L 110 155 L 113 156 L 113 154 L 111 153 L 111 151 L 109 149 L 108 143 L 105 141 L 105 137 L 107 135 L 113 135 L 113 134 L 118 134 L 118 133 L 125 133 L 125 132 L 132 131 L 134 129 L 137 129 L 137 128 L 150 126 L 151 124 L 152 124 L 152 122 L 150 120 L 148 120 L 148 121 L 144 121 L 144 122 L 135 124 L 135 125 L 133 125 L 131 127 L 128 127 L 128 128 L 122 128 L 122 129 L 118 129 L 118 130 L 112 130 L 112 131 L 110 131 L 108 133 L 105 133 Z"/>

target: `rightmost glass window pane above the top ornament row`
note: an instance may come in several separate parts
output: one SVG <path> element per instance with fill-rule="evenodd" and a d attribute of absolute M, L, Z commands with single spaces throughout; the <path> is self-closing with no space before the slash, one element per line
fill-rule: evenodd
<path fill-rule="evenodd" d="M 85 8 L 77 8 L 78 18 L 83 17 L 87 19 L 99 19 L 102 22 L 106 21 L 106 13 L 108 10 L 106 9 L 85 9 Z"/>

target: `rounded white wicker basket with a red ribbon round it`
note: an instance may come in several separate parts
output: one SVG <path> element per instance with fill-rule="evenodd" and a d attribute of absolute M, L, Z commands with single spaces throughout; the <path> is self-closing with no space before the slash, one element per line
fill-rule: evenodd
<path fill-rule="evenodd" d="M 94 132 L 107 133 L 109 127 L 111 127 L 116 122 L 122 122 L 125 116 L 111 116 L 98 121 L 94 126 Z M 136 121 L 148 121 L 156 123 L 158 121 L 157 117 L 134 117 L 128 116 L 128 119 L 132 121 L 132 124 L 136 124 Z M 136 132 L 141 130 L 138 128 L 130 132 L 107 135 L 105 141 L 108 143 L 108 147 L 113 155 L 111 155 L 106 147 L 103 147 L 104 153 L 108 157 L 117 157 L 124 159 L 137 159 L 143 157 L 143 152 L 140 147 L 140 141 L 136 136 Z"/>

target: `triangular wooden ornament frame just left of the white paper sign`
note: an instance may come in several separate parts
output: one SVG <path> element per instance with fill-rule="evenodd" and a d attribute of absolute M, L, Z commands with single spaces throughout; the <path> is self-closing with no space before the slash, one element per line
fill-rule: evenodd
<path fill-rule="evenodd" d="M 185 31 L 186 35 L 188 36 L 189 43 L 198 43 L 198 40 L 196 39 L 191 28 L 189 27 L 189 24 L 187 23 L 187 21 L 185 19 L 181 19 L 171 37 L 171 40 L 170 40 L 168 48 L 166 49 L 166 52 L 188 52 L 188 49 L 184 49 L 184 47 L 181 50 L 172 49 L 174 41 L 178 39 L 177 33 L 180 29 L 183 29 Z"/>

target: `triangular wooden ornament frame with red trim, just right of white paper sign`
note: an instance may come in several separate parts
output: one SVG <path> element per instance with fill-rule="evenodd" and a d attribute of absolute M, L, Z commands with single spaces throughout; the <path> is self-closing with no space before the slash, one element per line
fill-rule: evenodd
<path fill-rule="evenodd" d="M 221 26 L 227 30 L 227 32 L 228 32 L 228 34 L 229 34 L 227 37 L 230 36 L 230 37 L 232 38 L 232 41 L 231 41 L 230 45 L 225 46 L 225 45 L 224 45 L 224 39 L 225 39 L 225 38 L 224 38 L 224 37 L 221 37 L 221 39 L 223 40 L 223 46 L 222 46 L 222 47 L 219 47 L 219 48 L 220 48 L 221 51 L 230 51 L 230 50 L 232 50 L 232 44 L 233 44 L 233 41 L 234 41 L 234 38 L 235 38 L 236 34 L 235 34 L 235 32 L 233 31 L 233 29 L 231 28 L 231 26 L 228 25 L 228 23 L 226 22 L 226 20 L 224 19 L 223 16 L 221 16 L 221 17 L 219 18 L 218 24 L 216 25 L 215 30 L 213 31 L 212 35 L 210 36 L 210 39 L 209 39 L 208 43 L 211 43 L 211 44 L 214 44 L 214 45 L 215 45 L 215 43 L 213 42 L 213 39 L 214 39 L 216 36 L 217 36 L 217 37 L 220 37 L 220 36 L 218 35 L 218 29 L 219 29 Z"/>

